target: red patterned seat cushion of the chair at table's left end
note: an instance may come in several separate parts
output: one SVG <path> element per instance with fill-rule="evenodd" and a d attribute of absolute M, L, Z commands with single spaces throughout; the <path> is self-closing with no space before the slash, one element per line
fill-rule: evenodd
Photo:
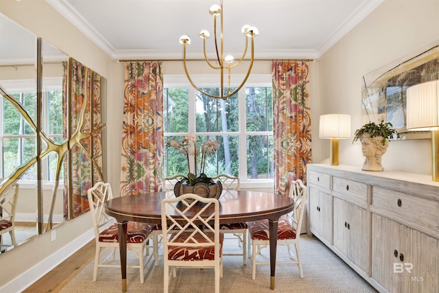
<path fill-rule="evenodd" d="M 142 243 L 150 236 L 153 224 L 141 222 L 128 222 L 127 224 L 127 243 Z M 117 223 L 112 224 L 104 231 L 99 233 L 99 242 L 119 242 Z"/>

